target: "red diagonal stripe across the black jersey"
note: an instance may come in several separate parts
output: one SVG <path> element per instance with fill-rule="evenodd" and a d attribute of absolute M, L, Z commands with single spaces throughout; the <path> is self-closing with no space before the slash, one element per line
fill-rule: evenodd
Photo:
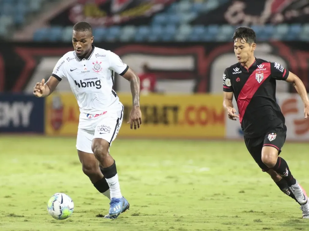
<path fill-rule="evenodd" d="M 269 62 L 264 62 L 261 65 L 264 64 L 264 67 L 266 68 L 266 71 L 257 71 L 259 67 L 257 67 L 256 70 L 252 72 L 252 74 L 249 76 L 247 79 L 246 83 L 243 85 L 243 88 L 239 92 L 238 99 L 237 99 L 237 106 L 239 110 L 239 122 L 243 121 L 243 116 L 245 114 L 245 111 L 256 93 L 257 89 L 264 83 L 264 81 L 270 76 L 271 70 L 270 70 L 270 63 Z M 256 79 L 256 74 L 261 74 L 263 73 L 263 79 L 259 83 Z"/>

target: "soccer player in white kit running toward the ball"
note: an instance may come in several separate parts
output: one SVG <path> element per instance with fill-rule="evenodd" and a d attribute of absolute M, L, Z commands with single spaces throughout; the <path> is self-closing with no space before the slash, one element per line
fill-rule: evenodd
<path fill-rule="evenodd" d="M 95 188 L 110 199 L 105 218 L 117 218 L 129 209 L 122 196 L 115 160 L 109 146 L 116 138 L 123 120 L 123 105 L 114 85 L 115 72 L 130 81 L 133 108 L 129 115 L 130 128 L 139 128 L 142 113 L 139 105 L 140 80 L 115 53 L 95 47 L 91 25 L 79 22 L 73 27 L 74 51 L 62 56 L 46 83 L 36 83 L 36 97 L 49 96 L 61 79 L 66 78 L 80 108 L 76 148 L 83 172 Z"/>

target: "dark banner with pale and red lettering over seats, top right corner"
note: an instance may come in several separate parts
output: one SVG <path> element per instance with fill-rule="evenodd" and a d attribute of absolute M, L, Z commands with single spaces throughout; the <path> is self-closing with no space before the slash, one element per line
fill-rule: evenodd
<path fill-rule="evenodd" d="M 303 0 L 229 0 L 200 14 L 193 24 L 263 25 L 309 22 L 309 2 Z"/>

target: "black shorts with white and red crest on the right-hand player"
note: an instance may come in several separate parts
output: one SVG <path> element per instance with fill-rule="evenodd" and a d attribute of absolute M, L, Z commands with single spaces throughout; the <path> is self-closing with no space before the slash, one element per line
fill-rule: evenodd
<path fill-rule="evenodd" d="M 281 148 L 286 141 L 286 125 L 281 124 L 276 128 L 270 129 L 265 136 L 257 138 L 244 137 L 244 140 L 246 147 L 255 162 L 260 166 L 263 172 L 266 172 L 269 168 L 262 162 L 262 148 L 264 146 L 274 147 L 278 150 L 279 155 Z"/>

